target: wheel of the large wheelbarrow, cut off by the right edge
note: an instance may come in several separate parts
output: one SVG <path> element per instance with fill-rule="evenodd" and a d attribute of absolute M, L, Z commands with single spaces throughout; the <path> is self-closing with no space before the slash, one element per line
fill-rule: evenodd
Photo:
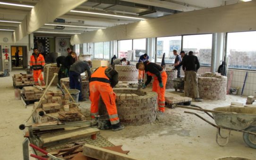
<path fill-rule="evenodd" d="M 245 129 L 246 131 L 256 133 L 256 126 L 251 126 Z M 243 134 L 244 142 L 251 148 L 256 149 L 256 136 L 248 133 Z"/>

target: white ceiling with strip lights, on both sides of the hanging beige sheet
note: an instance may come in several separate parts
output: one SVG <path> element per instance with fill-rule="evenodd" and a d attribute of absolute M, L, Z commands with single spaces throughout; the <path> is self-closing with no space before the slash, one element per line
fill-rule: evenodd
<path fill-rule="evenodd" d="M 34 6 L 39 0 L 0 0 L 15 4 Z M 88 0 L 58 18 L 65 23 L 49 22 L 34 32 L 36 36 L 68 36 L 98 30 L 120 24 L 128 24 L 161 16 L 178 14 L 203 8 L 239 3 L 240 0 Z M 0 21 L 21 22 L 32 8 L 0 4 Z M 82 11 L 82 13 L 81 13 Z M 86 12 L 86 13 L 85 13 Z M 88 13 L 90 12 L 90 13 Z M 91 14 L 91 13 L 100 13 Z M 105 14 L 105 15 L 102 15 Z M 115 16 L 109 16 L 111 14 Z M 140 19 L 138 19 L 140 18 Z M 0 29 L 15 30 L 19 24 L 0 22 Z M 59 25 L 60 29 L 56 29 Z M 63 29 L 63 25 L 66 25 Z M 72 25 L 72 26 L 70 26 Z M 92 28 L 91 28 L 92 27 Z M 6 32 L 6 31 L 5 31 Z M 9 31 L 13 32 L 13 31 Z M 48 32 L 48 33 L 45 33 Z"/>

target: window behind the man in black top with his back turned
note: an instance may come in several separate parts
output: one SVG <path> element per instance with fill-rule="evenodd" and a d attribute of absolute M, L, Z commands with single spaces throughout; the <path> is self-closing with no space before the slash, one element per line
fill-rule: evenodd
<path fill-rule="evenodd" d="M 185 53 L 193 51 L 200 65 L 211 66 L 212 37 L 212 34 L 183 36 L 183 50 Z"/>

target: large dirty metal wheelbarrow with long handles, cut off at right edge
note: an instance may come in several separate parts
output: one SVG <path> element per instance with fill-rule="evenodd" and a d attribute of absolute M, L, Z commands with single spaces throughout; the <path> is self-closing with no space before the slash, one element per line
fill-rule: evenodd
<path fill-rule="evenodd" d="M 192 109 L 197 111 L 203 111 L 209 115 L 216 124 L 206 120 L 195 112 L 184 111 L 185 113 L 194 114 L 202 120 L 217 128 L 216 132 L 216 143 L 219 146 L 224 146 L 228 144 L 230 131 L 243 132 L 244 142 L 251 148 L 256 149 L 256 108 L 254 107 L 218 107 L 213 110 L 205 110 L 199 106 L 183 106 L 176 105 L 175 107 Z M 209 113 L 211 112 L 212 115 Z M 227 129 L 229 131 L 228 136 L 221 135 L 221 129 Z M 224 144 L 220 144 L 218 139 L 226 139 Z"/>

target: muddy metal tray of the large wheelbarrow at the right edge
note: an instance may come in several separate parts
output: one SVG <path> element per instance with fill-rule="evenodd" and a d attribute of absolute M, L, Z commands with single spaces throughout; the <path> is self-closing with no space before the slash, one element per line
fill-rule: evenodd
<path fill-rule="evenodd" d="M 213 118 L 218 126 L 230 129 L 244 130 L 256 125 L 256 108 L 254 107 L 218 107 L 213 111 L 237 113 L 213 113 Z"/>

